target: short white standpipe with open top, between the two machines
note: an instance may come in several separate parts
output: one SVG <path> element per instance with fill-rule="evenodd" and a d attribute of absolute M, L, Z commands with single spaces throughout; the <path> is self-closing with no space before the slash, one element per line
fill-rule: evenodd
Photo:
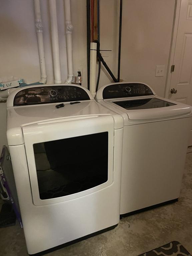
<path fill-rule="evenodd" d="M 90 44 L 90 92 L 96 95 L 97 43 Z"/>

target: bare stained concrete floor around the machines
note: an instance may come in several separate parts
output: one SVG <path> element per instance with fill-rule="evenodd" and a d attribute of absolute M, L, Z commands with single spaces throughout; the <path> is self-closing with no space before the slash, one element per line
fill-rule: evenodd
<path fill-rule="evenodd" d="M 123 218 L 111 231 L 46 255 L 137 256 L 174 240 L 192 254 L 192 153 L 187 154 L 179 202 Z M 27 255 L 18 223 L 0 229 L 0 256 Z"/>

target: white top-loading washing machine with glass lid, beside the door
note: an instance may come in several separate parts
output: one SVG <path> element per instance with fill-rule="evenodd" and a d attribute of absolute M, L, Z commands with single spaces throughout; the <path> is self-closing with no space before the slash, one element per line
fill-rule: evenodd
<path fill-rule="evenodd" d="M 96 100 L 124 118 L 120 214 L 178 199 L 191 106 L 158 97 L 146 84 L 113 83 Z"/>

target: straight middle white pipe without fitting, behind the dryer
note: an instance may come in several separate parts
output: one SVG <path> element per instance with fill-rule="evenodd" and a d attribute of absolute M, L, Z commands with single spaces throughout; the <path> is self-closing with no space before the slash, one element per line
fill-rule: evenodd
<path fill-rule="evenodd" d="M 60 66 L 57 11 L 56 11 L 55 0 L 49 0 L 49 8 L 50 8 L 50 21 L 51 21 L 54 83 L 60 84 L 61 83 L 61 66 Z"/>

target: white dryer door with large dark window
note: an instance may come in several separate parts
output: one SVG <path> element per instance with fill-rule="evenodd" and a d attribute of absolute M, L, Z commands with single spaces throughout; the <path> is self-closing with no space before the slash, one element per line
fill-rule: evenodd
<path fill-rule="evenodd" d="M 113 118 L 78 116 L 23 129 L 33 203 L 58 203 L 113 182 Z"/>

